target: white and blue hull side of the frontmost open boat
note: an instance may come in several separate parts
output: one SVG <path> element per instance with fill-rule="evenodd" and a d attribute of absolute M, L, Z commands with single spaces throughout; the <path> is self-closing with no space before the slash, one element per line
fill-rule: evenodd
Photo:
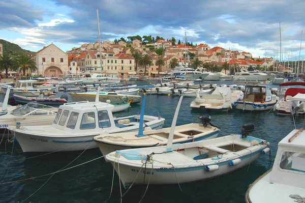
<path fill-rule="evenodd" d="M 261 156 L 261 150 L 254 152 L 253 154 L 241 158 L 241 163 L 238 165 L 231 166 L 229 163 L 231 160 L 219 163 L 219 169 L 216 171 L 207 171 L 205 166 L 194 166 L 188 168 L 175 168 L 163 167 L 163 168 L 147 168 L 144 171 L 144 166 L 142 168 L 129 166 L 125 164 L 119 164 L 119 170 L 117 164 L 114 168 L 118 174 L 120 174 L 121 182 L 124 187 L 129 187 L 133 182 L 134 185 L 137 184 L 181 184 L 190 183 L 196 181 L 206 181 L 209 179 L 214 179 L 226 175 L 227 173 L 239 170 L 244 166 L 248 166 L 250 163 L 254 162 Z M 111 162 L 113 165 L 114 162 Z M 124 172 L 122 172 L 124 171 Z M 144 174 L 144 172 L 146 172 Z M 137 177 L 136 177 L 137 176 Z M 145 176 L 145 179 L 144 179 Z"/>

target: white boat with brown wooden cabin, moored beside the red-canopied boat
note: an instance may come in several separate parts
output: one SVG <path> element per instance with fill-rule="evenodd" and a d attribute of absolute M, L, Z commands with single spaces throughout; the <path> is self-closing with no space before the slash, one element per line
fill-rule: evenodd
<path fill-rule="evenodd" d="M 235 103 L 235 107 L 241 110 L 262 111 L 272 109 L 279 101 L 279 97 L 271 94 L 268 86 L 246 85 L 243 98 Z"/>

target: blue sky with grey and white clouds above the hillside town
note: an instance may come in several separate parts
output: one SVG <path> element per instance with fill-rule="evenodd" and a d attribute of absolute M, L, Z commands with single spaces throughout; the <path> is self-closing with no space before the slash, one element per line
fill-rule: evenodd
<path fill-rule="evenodd" d="M 151 35 L 184 42 L 186 33 L 197 45 L 303 60 L 304 8 L 304 0 L 2 0 L 0 39 L 68 51 L 98 41 L 98 9 L 101 41 Z"/>

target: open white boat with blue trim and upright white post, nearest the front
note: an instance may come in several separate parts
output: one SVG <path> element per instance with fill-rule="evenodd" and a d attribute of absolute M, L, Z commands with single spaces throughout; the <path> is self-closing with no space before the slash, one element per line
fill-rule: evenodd
<path fill-rule="evenodd" d="M 173 124 L 175 121 L 176 113 Z M 125 188 L 205 181 L 248 166 L 269 150 L 265 140 L 247 136 L 252 130 L 254 125 L 248 124 L 243 125 L 241 134 L 172 144 L 172 125 L 167 146 L 117 150 L 105 159 L 113 165 Z"/>

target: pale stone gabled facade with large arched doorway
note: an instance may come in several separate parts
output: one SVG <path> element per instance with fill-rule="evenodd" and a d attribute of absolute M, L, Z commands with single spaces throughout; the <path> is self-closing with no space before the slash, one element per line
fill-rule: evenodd
<path fill-rule="evenodd" d="M 68 54 L 59 49 L 54 44 L 39 50 L 34 56 L 36 66 L 38 68 L 37 75 L 46 77 L 57 77 L 60 74 L 68 73 Z"/>

